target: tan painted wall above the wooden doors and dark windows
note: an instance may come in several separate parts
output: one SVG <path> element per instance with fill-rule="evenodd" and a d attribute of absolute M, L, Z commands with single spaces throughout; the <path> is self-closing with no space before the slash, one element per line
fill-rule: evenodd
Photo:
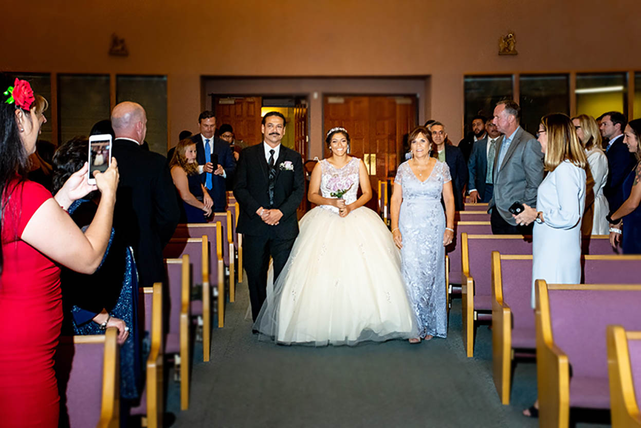
<path fill-rule="evenodd" d="M 460 136 L 463 74 L 641 69 L 638 0 L 34 0 L 0 26 L 8 71 L 167 74 L 169 130 L 200 76 L 425 76 Z M 28 6 L 28 8 L 27 8 Z M 498 56 L 515 31 L 518 56 Z M 111 34 L 128 58 L 108 56 Z M 458 135 L 457 135 L 458 134 Z"/>

